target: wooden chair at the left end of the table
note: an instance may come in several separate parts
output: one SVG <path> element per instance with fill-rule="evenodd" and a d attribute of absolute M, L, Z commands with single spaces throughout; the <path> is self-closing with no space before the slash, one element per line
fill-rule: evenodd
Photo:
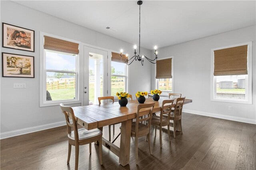
<path fill-rule="evenodd" d="M 85 128 L 77 128 L 76 117 L 74 111 L 71 107 L 64 106 L 60 103 L 60 108 L 65 115 L 67 128 L 68 128 L 68 160 L 70 161 L 71 155 L 71 145 L 75 146 L 75 170 L 78 169 L 78 156 L 79 156 L 79 146 L 84 144 L 89 144 L 90 154 L 92 153 L 92 142 L 99 142 L 99 159 L 102 165 L 102 131 L 99 129 L 86 130 Z M 70 123 L 70 117 L 72 124 Z M 73 130 L 71 129 L 73 128 Z"/>

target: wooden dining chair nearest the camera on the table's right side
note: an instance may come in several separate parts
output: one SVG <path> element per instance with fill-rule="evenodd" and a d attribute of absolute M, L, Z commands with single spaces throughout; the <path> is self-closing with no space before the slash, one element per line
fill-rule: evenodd
<path fill-rule="evenodd" d="M 155 105 L 155 102 L 148 103 L 148 104 L 138 104 L 136 122 L 132 122 L 131 136 L 135 137 L 136 164 L 138 164 L 138 138 L 139 137 L 147 136 L 149 153 L 150 155 L 152 154 L 151 148 L 150 148 L 150 125 L 151 125 L 151 118 L 152 118 L 154 105 Z M 144 115 L 147 115 L 147 117 L 142 118 Z M 147 121 L 148 122 L 147 125 L 143 124 L 142 123 L 143 121 Z"/>

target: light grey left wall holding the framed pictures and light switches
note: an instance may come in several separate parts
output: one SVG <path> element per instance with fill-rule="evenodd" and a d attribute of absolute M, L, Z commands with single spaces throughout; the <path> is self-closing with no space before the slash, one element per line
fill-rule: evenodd
<path fill-rule="evenodd" d="M 40 31 L 105 49 L 119 51 L 120 48 L 123 48 L 125 52 L 132 55 L 133 45 L 130 43 L 38 12 L 15 2 L 0 1 L 0 3 L 1 24 L 5 22 L 35 31 L 35 52 L 2 48 L 1 45 L 1 52 L 32 55 L 35 57 L 35 78 L 1 77 L 0 79 L 1 138 L 65 124 L 63 122 L 64 116 L 61 114 L 59 106 L 39 107 Z M 142 53 L 149 56 L 151 51 L 142 48 Z M 83 57 L 83 54 L 80 54 L 80 57 Z M 138 90 L 150 91 L 151 76 L 149 73 L 149 63 L 145 62 L 143 67 L 140 63 L 132 63 L 129 66 L 128 72 L 132 78 L 132 81 L 128 84 L 130 89 L 128 93 L 134 95 Z M 82 78 L 82 74 L 80 75 Z M 80 82 L 83 82 L 83 80 L 80 79 Z M 26 83 L 26 89 L 13 89 L 13 83 Z M 80 96 L 83 97 L 83 91 L 80 92 Z M 81 104 L 71 106 L 77 105 Z"/>

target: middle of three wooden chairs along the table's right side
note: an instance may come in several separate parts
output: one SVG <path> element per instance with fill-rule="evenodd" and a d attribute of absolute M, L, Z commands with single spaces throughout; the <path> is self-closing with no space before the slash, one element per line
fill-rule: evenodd
<path fill-rule="evenodd" d="M 171 142 L 171 136 L 170 136 L 170 114 L 172 109 L 172 104 L 174 102 L 174 99 L 172 100 L 164 100 L 162 103 L 161 113 L 160 116 L 152 116 L 151 125 L 155 126 L 155 136 L 156 136 L 156 127 L 159 127 L 159 134 L 160 134 L 160 148 L 162 148 L 162 127 L 167 126 L 168 127 L 168 136 L 169 141 Z M 164 105 L 170 104 L 167 106 L 166 109 L 164 109 Z M 163 115 L 167 115 L 167 118 L 164 118 Z"/>

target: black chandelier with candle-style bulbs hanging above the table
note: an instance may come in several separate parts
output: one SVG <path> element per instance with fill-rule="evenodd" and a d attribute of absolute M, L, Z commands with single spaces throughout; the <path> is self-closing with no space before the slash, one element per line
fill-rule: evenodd
<path fill-rule="evenodd" d="M 137 2 L 137 4 L 140 6 L 142 4 L 142 1 L 139 0 Z M 155 49 L 155 52 L 154 52 L 155 59 L 149 59 L 148 57 L 146 57 L 146 55 L 140 55 L 140 24 L 139 24 L 139 53 L 138 53 L 138 55 L 136 55 L 136 48 L 137 48 L 137 46 L 134 45 L 134 56 L 132 58 L 128 59 L 128 54 L 126 54 L 126 59 L 125 59 L 126 61 L 124 61 L 124 63 L 126 63 L 127 65 L 130 65 L 134 60 L 135 61 L 138 60 L 143 65 L 144 59 L 147 59 L 148 61 L 150 61 L 150 63 L 153 63 L 153 64 L 156 63 L 156 61 L 157 61 L 157 51 L 156 51 L 157 47 L 156 46 L 154 47 L 154 49 Z M 122 57 L 123 57 L 122 52 L 123 52 L 123 50 L 121 49 L 120 50 L 121 61 L 122 61 Z"/>

